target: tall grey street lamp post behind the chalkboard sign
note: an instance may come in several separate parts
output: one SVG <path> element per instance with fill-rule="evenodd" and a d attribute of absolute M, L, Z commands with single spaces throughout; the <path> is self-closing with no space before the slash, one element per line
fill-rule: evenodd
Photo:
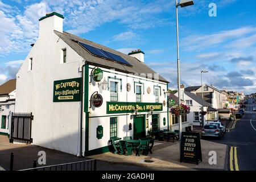
<path fill-rule="evenodd" d="M 178 98 L 179 98 L 179 106 L 180 106 L 180 51 L 179 51 L 179 21 L 178 21 L 178 7 L 186 7 L 193 5 L 194 2 L 191 0 L 181 0 L 180 3 L 176 0 L 176 35 L 177 35 L 177 90 L 178 90 Z M 180 130 L 180 139 L 181 139 L 181 115 L 178 117 L 179 122 L 179 130 Z"/>

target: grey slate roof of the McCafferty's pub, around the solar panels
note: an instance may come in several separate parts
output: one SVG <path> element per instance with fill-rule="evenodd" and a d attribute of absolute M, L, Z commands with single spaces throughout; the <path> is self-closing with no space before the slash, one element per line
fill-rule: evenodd
<path fill-rule="evenodd" d="M 98 67 L 103 67 L 103 68 L 108 68 L 108 69 L 113 69 L 114 68 L 115 71 L 120 71 L 120 72 L 125 72 L 125 73 L 133 73 L 133 74 L 134 73 L 136 73 L 136 74 L 144 73 L 146 75 L 147 75 L 147 73 L 150 73 L 151 75 L 149 75 L 148 78 L 151 78 L 152 80 L 154 80 L 154 74 L 156 72 L 153 71 L 146 64 L 144 64 L 141 61 L 139 61 L 138 59 L 136 59 L 135 57 L 131 57 L 131 56 L 126 55 L 124 53 L 115 51 L 114 49 L 110 49 L 108 47 L 101 46 L 100 44 L 91 42 L 89 40 L 82 39 L 79 36 L 69 34 L 68 32 L 63 32 L 63 33 L 58 32 L 58 31 L 54 31 L 54 32 L 55 32 L 56 35 L 58 35 L 60 37 L 60 39 L 62 39 L 65 43 L 67 43 L 68 46 L 70 46 L 82 58 L 84 58 L 86 63 L 88 63 L 90 65 L 95 65 L 95 66 L 98 66 Z M 104 51 L 108 51 L 110 53 L 114 53 L 116 55 L 119 55 L 119 56 L 123 57 L 123 59 L 125 59 L 131 65 L 133 65 L 133 67 L 130 67 L 130 66 L 125 65 L 125 64 L 116 63 L 115 61 L 106 60 L 102 57 L 93 56 L 91 53 L 86 51 L 85 48 L 80 46 L 80 44 L 78 44 L 78 42 L 82 42 L 82 43 L 88 44 L 89 46 L 100 48 L 100 49 L 103 49 Z M 168 82 L 165 78 L 163 78 L 160 75 L 159 75 L 159 78 L 157 78 L 157 77 L 155 77 L 155 78 L 159 79 L 159 81 Z"/>

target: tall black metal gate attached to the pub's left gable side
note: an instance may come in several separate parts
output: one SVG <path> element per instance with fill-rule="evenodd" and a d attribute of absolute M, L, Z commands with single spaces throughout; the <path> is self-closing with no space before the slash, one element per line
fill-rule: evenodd
<path fill-rule="evenodd" d="M 30 144 L 31 138 L 32 113 L 11 113 L 11 132 L 10 142 Z"/>

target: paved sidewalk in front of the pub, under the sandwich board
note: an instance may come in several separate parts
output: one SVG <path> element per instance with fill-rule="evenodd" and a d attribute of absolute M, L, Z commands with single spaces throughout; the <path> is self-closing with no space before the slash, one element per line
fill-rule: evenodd
<path fill-rule="evenodd" d="M 103 160 L 105 162 L 119 163 L 119 164 L 130 164 L 144 167 L 161 167 L 179 170 L 224 170 L 225 169 L 225 155 L 226 155 L 226 145 L 209 142 L 207 140 L 201 140 L 203 162 L 199 165 L 193 163 L 180 163 L 179 162 L 179 142 L 174 144 L 168 144 L 170 142 L 163 142 L 163 147 L 158 148 L 153 147 L 153 154 L 148 156 L 135 156 L 135 154 L 130 156 L 112 154 L 107 152 L 105 154 L 89 156 L 89 158 Z M 209 151 L 216 151 L 217 153 L 217 164 L 210 165 L 208 163 Z"/>

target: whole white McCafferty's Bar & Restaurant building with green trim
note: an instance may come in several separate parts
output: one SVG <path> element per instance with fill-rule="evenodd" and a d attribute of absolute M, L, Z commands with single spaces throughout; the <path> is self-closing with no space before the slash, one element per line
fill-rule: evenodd
<path fill-rule="evenodd" d="M 168 81 L 129 55 L 63 31 L 63 15 L 39 19 L 39 38 L 16 75 L 15 112 L 32 112 L 33 144 L 88 156 L 110 138 L 169 128 Z"/>

